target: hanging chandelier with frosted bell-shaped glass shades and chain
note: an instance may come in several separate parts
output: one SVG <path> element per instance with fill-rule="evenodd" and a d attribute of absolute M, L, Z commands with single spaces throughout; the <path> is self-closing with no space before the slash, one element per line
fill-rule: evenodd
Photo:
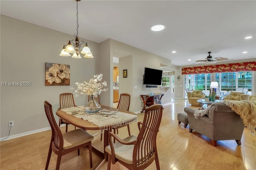
<path fill-rule="evenodd" d="M 93 58 L 92 52 L 90 48 L 88 47 L 87 43 L 83 41 L 79 41 L 78 38 L 78 1 L 76 1 L 76 34 L 74 36 L 76 37 L 75 40 L 69 40 L 67 45 L 63 45 L 63 48 L 60 52 L 60 56 L 71 56 L 70 53 L 73 53 L 72 58 L 81 58 L 80 53 L 84 54 L 85 58 Z M 82 45 L 84 47 L 82 48 Z M 81 51 L 82 49 L 82 51 Z"/>

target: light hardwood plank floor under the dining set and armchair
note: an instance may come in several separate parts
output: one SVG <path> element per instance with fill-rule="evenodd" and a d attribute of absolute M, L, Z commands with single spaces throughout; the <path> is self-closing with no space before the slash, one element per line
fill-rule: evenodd
<path fill-rule="evenodd" d="M 164 106 L 162 122 L 157 136 L 157 148 L 161 170 L 256 170 L 256 136 L 244 128 L 242 145 L 238 146 L 235 140 L 222 140 L 214 147 L 210 139 L 198 134 L 189 133 L 189 125 L 178 125 L 177 113 L 184 107 L 190 107 L 187 100 L 174 100 L 171 105 Z M 138 114 L 138 121 L 143 120 L 144 114 Z M 65 132 L 65 127 L 62 127 Z M 69 125 L 68 130 L 74 127 Z M 137 123 L 130 125 L 131 133 L 138 134 Z M 88 130 L 94 134 L 94 131 Z M 128 136 L 127 128 L 120 128 L 121 138 Z M 0 143 L 0 169 L 1 170 L 43 170 L 46 164 L 50 144 L 51 130 L 39 132 L 2 141 Z M 98 134 L 92 143 L 103 150 L 103 144 Z M 89 170 L 90 162 L 88 149 L 82 148 L 80 156 L 74 151 L 62 156 L 61 170 Z M 56 166 L 56 154 L 52 154 L 49 170 Z M 101 158 L 92 154 L 93 168 Z M 102 170 L 107 169 L 107 163 Z M 112 170 L 126 170 L 124 166 L 116 163 L 111 165 Z M 147 170 L 155 170 L 153 162 Z"/>

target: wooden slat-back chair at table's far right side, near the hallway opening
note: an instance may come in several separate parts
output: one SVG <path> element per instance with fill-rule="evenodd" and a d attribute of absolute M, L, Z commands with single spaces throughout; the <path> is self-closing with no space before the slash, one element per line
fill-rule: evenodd
<path fill-rule="evenodd" d="M 131 100 L 131 96 L 128 93 L 120 94 L 117 109 L 124 110 L 124 111 L 129 111 L 130 100 Z M 125 126 L 127 126 L 128 134 L 129 134 L 129 136 L 131 136 L 130 125 L 129 124 L 113 128 L 114 134 L 118 134 L 118 128 L 125 127 Z"/>

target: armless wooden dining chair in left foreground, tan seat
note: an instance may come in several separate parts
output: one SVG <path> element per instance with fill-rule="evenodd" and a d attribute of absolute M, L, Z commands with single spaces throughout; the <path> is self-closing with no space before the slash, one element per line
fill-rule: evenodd
<path fill-rule="evenodd" d="M 52 113 L 52 105 L 48 101 L 44 101 L 44 110 L 46 117 L 50 123 L 52 129 L 52 138 L 50 141 L 49 152 L 47 156 L 45 169 L 48 169 L 52 151 L 58 155 L 56 170 L 60 168 L 61 157 L 65 154 L 78 150 L 79 148 L 88 146 L 90 156 L 90 168 L 92 168 L 92 140 L 94 137 L 82 129 L 71 130 L 62 134 L 60 127 L 58 127 L 54 115 Z"/>

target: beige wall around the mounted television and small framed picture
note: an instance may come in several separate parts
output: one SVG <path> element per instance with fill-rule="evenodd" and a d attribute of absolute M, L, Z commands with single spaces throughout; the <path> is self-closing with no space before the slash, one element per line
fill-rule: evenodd
<path fill-rule="evenodd" d="M 161 69 L 160 63 L 171 65 L 171 61 L 143 51 L 136 47 L 111 40 L 111 50 L 118 51 L 119 57 L 119 93 L 130 93 L 131 104 L 130 111 L 139 112 L 142 109 L 142 99 L 140 95 L 154 93 L 164 93 L 162 104 L 171 102 L 171 90 L 158 88 L 146 88 L 143 85 L 144 67 Z M 115 56 L 117 57 L 117 56 Z M 175 67 L 175 66 L 173 66 Z M 127 69 L 127 78 L 122 77 L 122 70 Z M 137 89 L 134 88 L 137 86 Z"/>

